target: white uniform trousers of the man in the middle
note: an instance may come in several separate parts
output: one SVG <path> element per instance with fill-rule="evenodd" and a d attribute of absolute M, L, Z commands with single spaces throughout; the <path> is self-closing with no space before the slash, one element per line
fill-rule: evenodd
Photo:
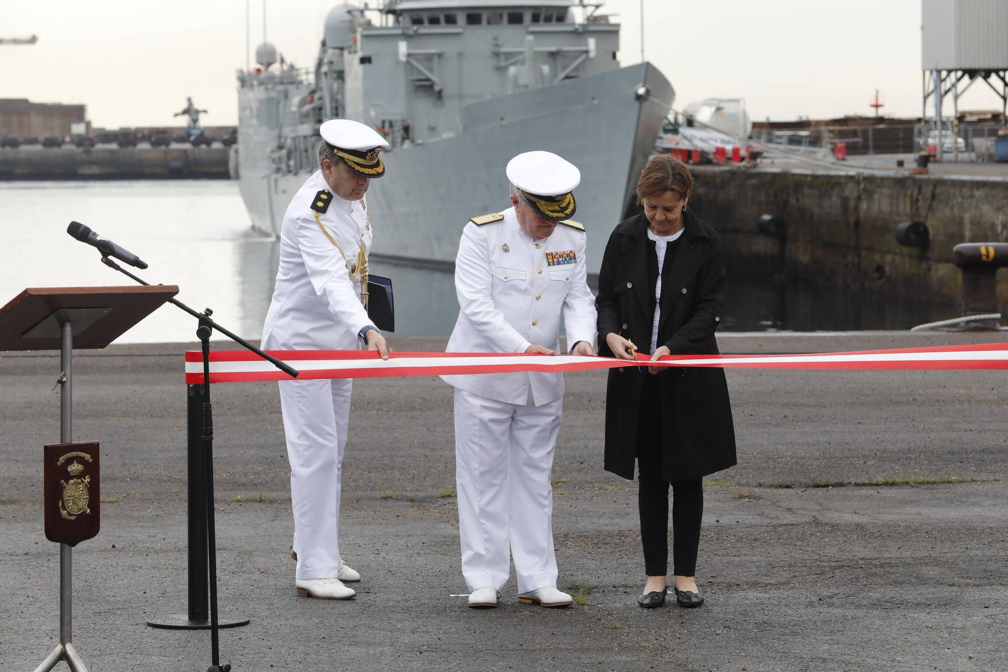
<path fill-rule="evenodd" d="M 462 572 L 470 590 L 556 585 L 549 474 L 563 400 L 515 406 L 456 388 L 455 454 Z"/>

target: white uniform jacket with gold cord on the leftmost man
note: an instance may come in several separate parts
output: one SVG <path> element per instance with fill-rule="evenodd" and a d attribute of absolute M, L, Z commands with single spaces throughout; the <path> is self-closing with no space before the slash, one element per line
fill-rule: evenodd
<path fill-rule="evenodd" d="M 323 190 L 331 201 L 320 213 L 311 205 Z M 322 171 L 308 178 L 283 215 L 280 267 L 263 325 L 263 348 L 357 348 L 357 334 L 373 323 L 361 305 L 360 277 L 351 277 L 351 268 L 356 274 L 358 253 L 363 247 L 367 255 L 371 237 L 363 200 L 334 194 Z"/>

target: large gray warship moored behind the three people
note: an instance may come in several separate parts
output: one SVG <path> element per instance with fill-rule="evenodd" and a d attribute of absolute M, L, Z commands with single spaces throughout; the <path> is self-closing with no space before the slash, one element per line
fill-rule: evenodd
<path fill-rule="evenodd" d="M 327 15 L 314 67 L 269 43 L 239 71 L 230 167 L 252 226 L 279 232 L 318 169 L 320 123 L 366 123 L 389 141 L 366 200 L 379 259 L 447 266 L 463 224 L 507 204 L 504 166 L 545 149 L 581 169 L 578 212 L 597 272 L 634 207 L 673 90 L 651 64 L 621 68 L 619 30 L 585 0 L 387 0 Z"/>

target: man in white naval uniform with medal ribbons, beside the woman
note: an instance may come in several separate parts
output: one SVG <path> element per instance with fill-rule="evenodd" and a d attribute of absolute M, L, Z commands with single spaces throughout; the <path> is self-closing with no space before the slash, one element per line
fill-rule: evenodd
<path fill-rule="evenodd" d="M 511 208 L 474 217 L 456 259 L 459 320 L 449 352 L 537 352 L 559 347 L 563 316 L 575 354 L 594 356 L 595 298 L 588 289 L 585 227 L 572 191 L 581 173 L 547 151 L 507 165 Z M 462 571 L 470 606 L 496 606 L 508 580 L 518 600 L 565 606 L 553 554 L 553 448 L 561 373 L 448 375 L 455 386 L 456 482 Z"/>

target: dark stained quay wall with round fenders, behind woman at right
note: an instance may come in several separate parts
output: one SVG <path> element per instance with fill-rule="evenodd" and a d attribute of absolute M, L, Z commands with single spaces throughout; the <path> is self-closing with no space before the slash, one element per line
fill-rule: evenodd
<path fill-rule="evenodd" d="M 953 247 L 1008 241 L 1008 182 L 694 170 L 691 207 L 721 234 L 730 271 L 783 274 L 893 297 L 958 302 Z M 786 222 L 780 241 L 761 235 L 759 218 Z M 896 225 L 920 221 L 927 249 L 902 247 Z M 998 274 L 1008 313 L 1008 269 Z"/>

